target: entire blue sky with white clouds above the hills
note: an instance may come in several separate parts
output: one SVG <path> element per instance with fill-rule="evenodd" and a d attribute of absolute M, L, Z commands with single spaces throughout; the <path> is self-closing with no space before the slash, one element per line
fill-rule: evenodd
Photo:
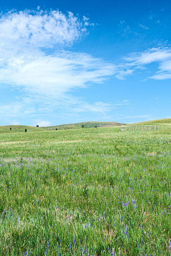
<path fill-rule="evenodd" d="M 0 125 L 171 118 L 170 1 L 0 9 Z"/>

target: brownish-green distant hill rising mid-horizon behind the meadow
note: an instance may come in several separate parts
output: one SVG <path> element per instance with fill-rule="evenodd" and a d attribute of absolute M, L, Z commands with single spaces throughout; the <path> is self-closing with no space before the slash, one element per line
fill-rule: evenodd
<path fill-rule="evenodd" d="M 114 127 L 114 126 L 120 126 L 122 123 L 116 123 L 116 122 L 82 122 L 82 123 L 75 123 L 75 124 L 61 124 L 61 125 L 54 125 L 54 126 L 47 126 L 43 127 L 46 129 L 55 130 L 56 128 L 58 130 L 63 129 L 85 129 L 85 128 L 94 128 L 97 127 Z M 84 127 L 82 128 L 82 125 Z"/>

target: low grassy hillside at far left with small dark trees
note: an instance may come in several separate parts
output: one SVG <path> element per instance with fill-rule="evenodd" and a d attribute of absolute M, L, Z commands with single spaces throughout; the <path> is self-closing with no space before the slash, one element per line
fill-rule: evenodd
<path fill-rule="evenodd" d="M 11 131 L 10 131 L 10 127 L 12 128 Z M 37 129 L 39 131 L 45 130 L 42 127 L 37 128 L 37 127 L 33 127 L 33 126 L 28 126 L 28 125 L 4 125 L 4 126 L 0 126 L 0 133 L 25 132 L 25 129 L 27 129 L 27 132 L 37 131 Z"/>

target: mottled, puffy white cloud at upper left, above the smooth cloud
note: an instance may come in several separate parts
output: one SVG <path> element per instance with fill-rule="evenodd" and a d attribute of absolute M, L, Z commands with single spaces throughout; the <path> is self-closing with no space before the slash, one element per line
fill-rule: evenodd
<path fill-rule="evenodd" d="M 72 12 L 65 15 L 55 10 L 12 10 L 0 15 L 3 38 L 0 45 L 22 51 L 21 46 L 51 48 L 56 44 L 72 44 L 87 33 L 88 24 L 86 17 L 80 20 Z"/>

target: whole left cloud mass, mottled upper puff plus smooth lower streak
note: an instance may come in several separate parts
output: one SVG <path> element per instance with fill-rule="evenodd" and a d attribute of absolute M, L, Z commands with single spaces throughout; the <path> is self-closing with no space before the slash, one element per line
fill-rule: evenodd
<path fill-rule="evenodd" d="M 82 20 L 59 11 L 10 11 L 0 16 L 0 82 L 25 92 L 60 97 L 75 87 L 102 83 L 113 64 L 61 48 L 87 34 Z"/>

